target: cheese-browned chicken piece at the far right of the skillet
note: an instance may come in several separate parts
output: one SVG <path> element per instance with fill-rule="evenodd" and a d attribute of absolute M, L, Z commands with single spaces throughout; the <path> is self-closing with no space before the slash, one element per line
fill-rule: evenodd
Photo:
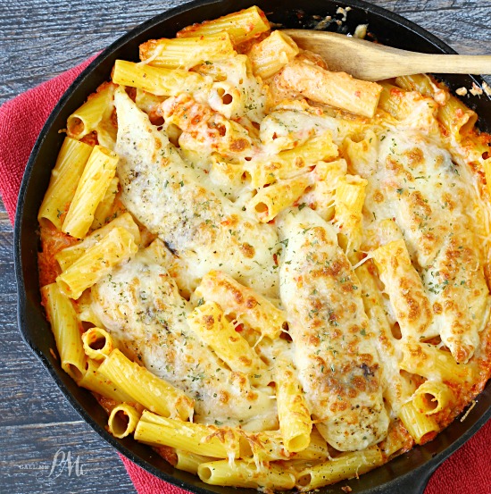
<path fill-rule="evenodd" d="M 476 237 L 473 201 L 451 155 L 420 133 L 390 131 L 379 145 L 378 170 L 367 175 L 367 203 L 377 221 L 404 231 L 432 308 L 429 330 L 458 362 L 479 345 L 490 303 Z"/>

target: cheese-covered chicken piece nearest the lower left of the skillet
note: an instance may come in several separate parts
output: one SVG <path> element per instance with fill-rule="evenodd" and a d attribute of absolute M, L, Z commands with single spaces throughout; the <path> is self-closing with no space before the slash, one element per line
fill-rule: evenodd
<path fill-rule="evenodd" d="M 152 373 L 195 399 L 196 422 L 275 425 L 276 406 L 267 386 L 253 389 L 244 373 L 232 373 L 187 325 L 192 310 L 156 258 L 154 247 L 92 289 L 93 309 L 104 326 Z"/>

